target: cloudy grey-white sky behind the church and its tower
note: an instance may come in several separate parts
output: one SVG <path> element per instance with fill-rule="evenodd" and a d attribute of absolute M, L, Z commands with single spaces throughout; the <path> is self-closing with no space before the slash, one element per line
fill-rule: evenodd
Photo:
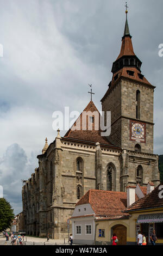
<path fill-rule="evenodd" d="M 48 138 L 54 141 L 53 112 L 82 112 L 100 100 L 111 80 L 126 20 L 120 0 L 0 0 L 0 185 L 22 211 L 21 179 L 38 166 Z M 162 0 L 128 1 L 128 23 L 142 74 L 156 86 L 154 153 L 163 154 Z M 64 136 L 65 131 L 60 132 Z"/>

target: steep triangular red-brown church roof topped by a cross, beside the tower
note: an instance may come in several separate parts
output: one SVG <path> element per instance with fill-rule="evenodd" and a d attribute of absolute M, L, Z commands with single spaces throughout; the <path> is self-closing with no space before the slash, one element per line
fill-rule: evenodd
<path fill-rule="evenodd" d="M 94 119 L 92 121 L 92 129 L 89 130 L 90 119 L 89 117 L 84 118 L 84 115 L 86 113 L 90 112 L 96 113 L 96 115 L 93 114 Z M 113 147 L 116 147 L 114 144 L 108 141 L 108 139 L 104 136 L 101 136 L 101 130 L 99 128 L 99 121 L 96 121 L 96 117 L 98 117 L 97 120 L 99 120 L 99 111 L 96 108 L 95 104 L 91 100 L 89 104 L 86 106 L 84 111 L 80 114 L 79 118 L 75 121 L 75 123 L 72 125 L 71 129 L 69 129 L 64 138 L 72 138 L 72 139 L 78 139 L 82 141 L 88 141 L 88 142 L 99 142 L 101 144 L 110 145 Z M 79 124 L 79 130 L 74 130 L 74 127 L 76 127 Z M 83 129 L 83 127 L 85 127 Z"/>

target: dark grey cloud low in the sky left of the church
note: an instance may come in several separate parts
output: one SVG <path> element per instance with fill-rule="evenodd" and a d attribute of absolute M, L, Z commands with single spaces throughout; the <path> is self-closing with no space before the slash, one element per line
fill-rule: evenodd
<path fill-rule="evenodd" d="M 33 155 L 28 159 L 25 151 L 18 144 L 10 145 L 0 159 L 0 181 L 4 197 L 18 213 L 22 209 L 22 181 L 29 179 L 34 172 L 36 161 Z"/>

